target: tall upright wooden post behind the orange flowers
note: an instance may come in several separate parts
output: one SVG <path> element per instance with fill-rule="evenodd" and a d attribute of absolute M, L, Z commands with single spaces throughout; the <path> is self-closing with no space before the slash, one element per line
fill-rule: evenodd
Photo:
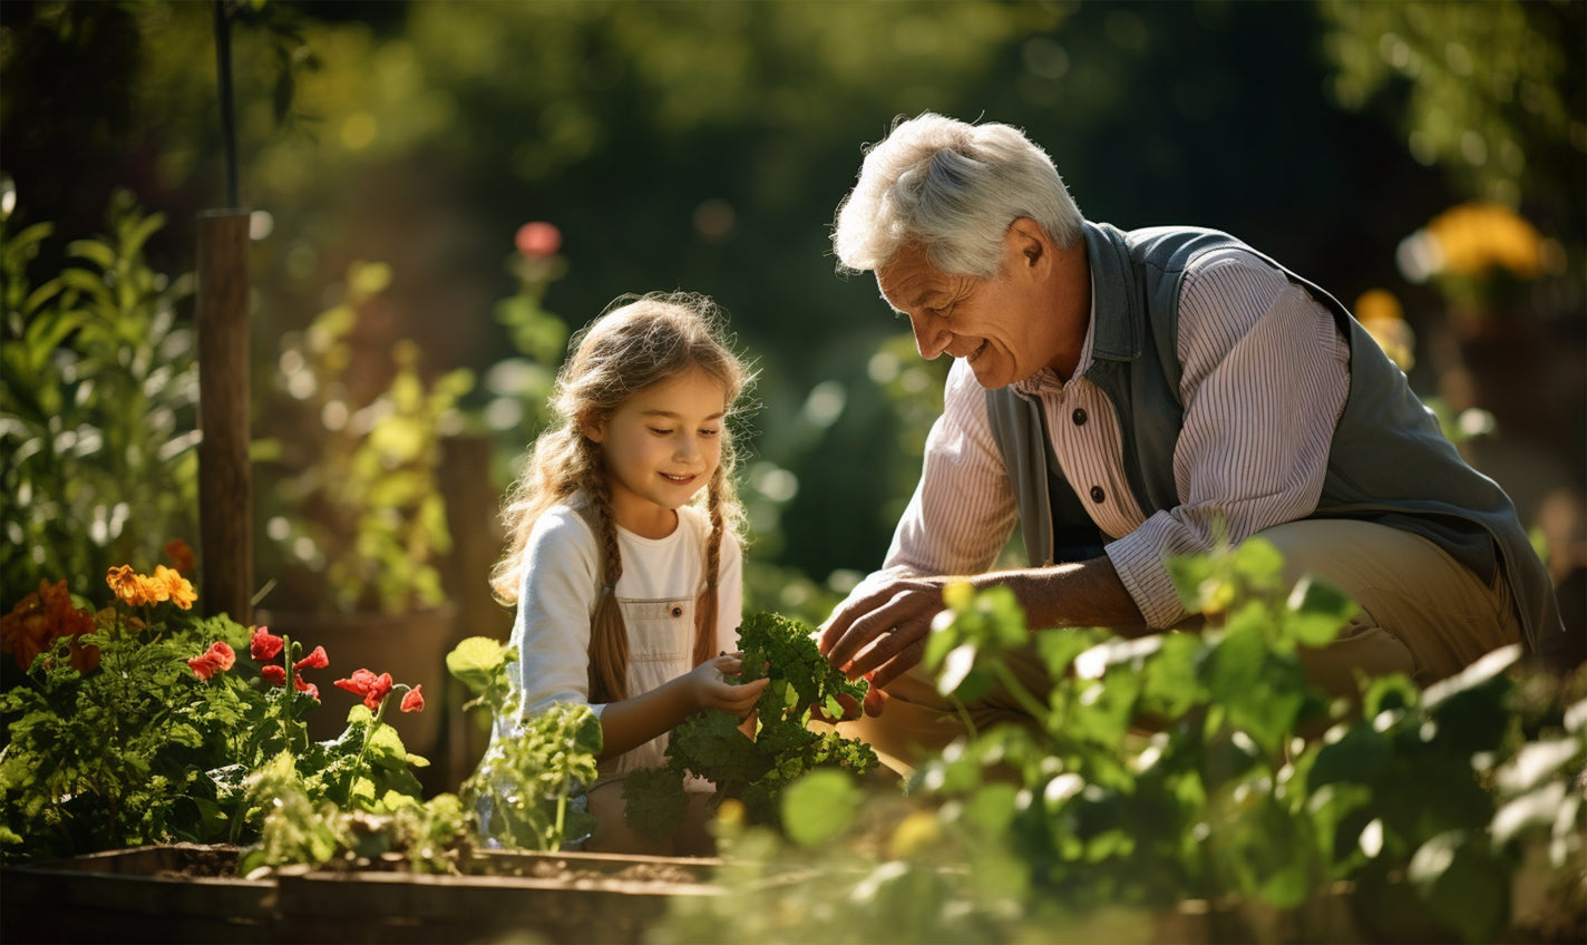
<path fill-rule="evenodd" d="M 198 214 L 198 534 L 205 614 L 252 622 L 248 211 Z"/>

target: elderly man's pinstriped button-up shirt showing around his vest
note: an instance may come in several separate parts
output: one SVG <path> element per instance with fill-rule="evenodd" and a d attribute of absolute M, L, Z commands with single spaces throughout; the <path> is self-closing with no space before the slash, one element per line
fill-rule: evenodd
<path fill-rule="evenodd" d="M 1086 379 L 1093 330 L 1071 381 L 1043 368 L 1016 390 L 1041 401 L 1063 477 L 1109 538 L 1108 558 L 1146 623 L 1171 626 L 1185 610 L 1168 557 L 1211 550 L 1220 538 L 1238 542 L 1316 511 L 1349 393 L 1349 344 L 1327 308 L 1255 255 L 1227 249 L 1198 260 L 1179 298 L 1179 504 L 1146 517 L 1124 472 L 1112 403 Z M 882 569 L 855 595 L 887 577 L 987 571 L 1017 517 L 986 390 L 955 360 L 920 482 Z"/>

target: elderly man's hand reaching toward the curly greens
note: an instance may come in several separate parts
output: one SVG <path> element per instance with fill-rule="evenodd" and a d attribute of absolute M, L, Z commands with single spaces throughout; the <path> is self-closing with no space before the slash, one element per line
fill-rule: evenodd
<path fill-rule="evenodd" d="M 865 675 L 871 688 L 865 712 L 881 715 L 887 683 L 925 655 L 932 620 L 941 614 L 946 577 L 905 577 L 844 601 L 822 626 L 817 647 L 849 679 Z"/>

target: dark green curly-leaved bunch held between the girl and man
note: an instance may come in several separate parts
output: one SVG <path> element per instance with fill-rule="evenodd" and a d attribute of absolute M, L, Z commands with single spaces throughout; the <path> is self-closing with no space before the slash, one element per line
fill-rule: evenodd
<path fill-rule="evenodd" d="M 840 698 L 865 698 L 867 683 L 851 682 L 816 648 L 814 629 L 778 614 L 755 614 L 738 628 L 744 652 L 736 682 L 771 679 L 754 712 L 754 736 L 727 712 L 700 712 L 671 733 L 667 767 L 635 772 L 625 779 L 628 826 L 654 836 L 671 836 L 682 823 L 684 777 L 716 783 L 719 798 L 744 805 L 751 823 L 782 823 L 779 798 L 803 775 L 838 769 L 859 777 L 876 767 L 870 745 L 836 731 L 809 728 L 819 707 L 843 717 Z"/>

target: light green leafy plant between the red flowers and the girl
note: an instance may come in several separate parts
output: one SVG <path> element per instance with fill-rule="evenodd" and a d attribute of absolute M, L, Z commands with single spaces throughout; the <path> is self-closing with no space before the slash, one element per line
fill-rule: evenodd
<path fill-rule="evenodd" d="M 490 637 L 468 637 L 446 656 L 448 671 L 463 682 L 475 701 L 463 709 L 489 709 L 492 718 L 521 718 L 508 685 L 508 666 L 517 650 Z M 479 836 L 492 847 L 559 850 L 587 837 L 595 818 L 571 801 L 597 777 L 601 748 L 600 718 L 589 706 L 557 702 L 521 718 L 511 739 L 495 739 L 462 798 L 479 818 Z"/>

